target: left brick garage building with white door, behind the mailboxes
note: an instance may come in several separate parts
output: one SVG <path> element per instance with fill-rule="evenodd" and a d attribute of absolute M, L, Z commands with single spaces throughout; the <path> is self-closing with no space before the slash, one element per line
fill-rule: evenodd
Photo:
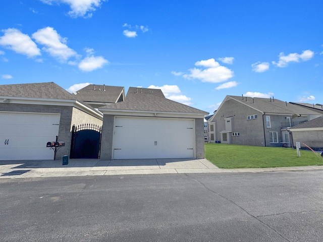
<path fill-rule="evenodd" d="M 0 85 L 0 160 L 53 159 L 46 143 L 65 142 L 57 159 L 69 155 L 73 125 L 102 125 L 103 115 L 53 82 Z"/>

